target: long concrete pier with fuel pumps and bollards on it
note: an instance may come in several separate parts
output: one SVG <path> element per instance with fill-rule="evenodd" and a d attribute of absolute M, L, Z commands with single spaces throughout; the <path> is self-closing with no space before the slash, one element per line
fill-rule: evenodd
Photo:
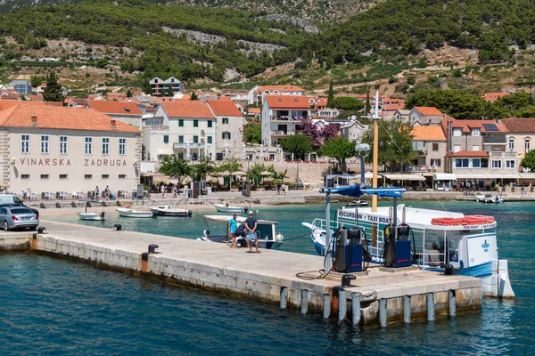
<path fill-rule="evenodd" d="M 0 232 L 0 251 L 35 250 L 80 259 L 171 284 L 201 287 L 338 319 L 338 312 L 329 311 L 331 305 L 336 304 L 337 311 L 342 311 L 344 318 L 349 318 L 348 322 L 361 325 L 378 326 L 380 321 L 384 322 L 383 318 L 387 324 L 407 322 L 408 317 L 413 322 L 427 320 L 431 299 L 437 319 L 481 309 L 481 280 L 465 276 L 417 269 L 391 273 L 371 266 L 366 272 L 355 273 L 357 279 L 344 289 L 345 293 L 337 293 L 343 295 L 343 300 L 334 300 L 333 287 L 342 285 L 341 274 L 331 273 L 325 279 L 296 277 L 300 272 L 321 269 L 321 256 L 271 250 L 247 254 L 243 248 L 193 239 L 45 220 L 41 225 L 46 227 L 43 234 Z M 158 248 L 154 254 L 149 254 L 148 247 L 153 244 Z M 313 277 L 317 273 L 306 275 Z M 451 302 L 451 295 L 455 295 L 455 303 Z M 410 296 L 408 303 L 407 296 Z M 386 313 L 381 312 L 381 320 L 380 301 L 386 303 Z M 340 309 L 339 303 L 343 303 Z M 353 311 L 353 305 L 358 305 L 360 310 Z M 404 311 L 407 308 L 410 311 Z"/>

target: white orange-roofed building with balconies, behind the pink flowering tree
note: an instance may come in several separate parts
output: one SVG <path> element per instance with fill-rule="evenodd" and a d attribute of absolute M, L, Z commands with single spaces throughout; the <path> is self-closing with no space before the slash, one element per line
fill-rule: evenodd
<path fill-rule="evenodd" d="M 262 144 L 271 147 L 294 134 L 303 117 L 310 118 L 307 96 L 267 95 L 262 108 Z"/>

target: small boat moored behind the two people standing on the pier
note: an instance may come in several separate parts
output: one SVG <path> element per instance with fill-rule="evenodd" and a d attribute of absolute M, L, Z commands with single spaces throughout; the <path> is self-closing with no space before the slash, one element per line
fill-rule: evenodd
<path fill-rule="evenodd" d="M 204 231 L 200 241 L 223 242 L 228 241 L 228 221 L 232 215 L 204 215 L 207 230 Z M 244 223 L 247 218 L 238 216 L 236 222 L 238 224 Z M 277 222 L 268 220 L 257 221 L 257 239 L 259 239 L 259 248 L 279 249 L 283 245 L 284 236 L 280 232 L 276 232 Z M 210 232 L 211 229 L 211 232 Z M 236 245 L 239 247 L 246 247 L 247 241 L 243 237 L 236 238 Z"/>

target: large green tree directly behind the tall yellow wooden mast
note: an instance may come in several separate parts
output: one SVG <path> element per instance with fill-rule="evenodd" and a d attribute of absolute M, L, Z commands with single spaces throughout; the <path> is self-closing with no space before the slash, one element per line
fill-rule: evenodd
<path fill-rule="evenodd" d="M 379 121 L 379 156 L 377 160 L 389 172 L 399 172 L 403 164 L 410 164 L 416 152 L 412 147 L 412 125 L 399 121 Z M 374 127 L 362 135 L 362 142 L 374 148 Z M 370 158 L 371 159 L 371 158 Z"/>

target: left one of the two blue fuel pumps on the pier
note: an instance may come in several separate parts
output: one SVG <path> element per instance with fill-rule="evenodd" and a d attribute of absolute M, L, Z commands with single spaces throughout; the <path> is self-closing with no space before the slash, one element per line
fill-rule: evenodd
<path fill-rule="evenodd" d="M 334 250 L 334 270 L 337 272 L 362 271 L 362 245 L 360 239 L 364 231 L 359 228 L 340 228 L 334 231 L 336 245 Z"/>

